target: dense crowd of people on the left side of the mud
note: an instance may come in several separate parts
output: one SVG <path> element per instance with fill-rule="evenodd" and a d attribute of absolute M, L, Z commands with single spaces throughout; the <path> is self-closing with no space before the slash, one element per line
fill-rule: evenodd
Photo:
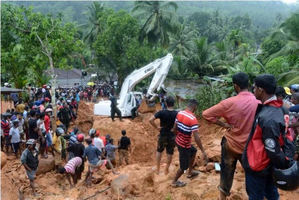
<path fill-rule="evenodd" d="M 89 87 L 85 90 L 89 89 L 96 88 Z M 114 170 L 116 150 L 120 152 L 119 165 L 122 165 L 123 160 L 129 164 L 128 152 L 131 142 L 125 130 L 121 132 L 122 137 L 117 146 L 109 134 L 101 136 L 99 130 L 91 129 L 87 138 L 77 127 L 68 132 L 70 122 L 77 118 L 78 102 L 84 100 L 80 94 L 85 90 L 76 88 L 56 90 L 54 94 L 57 107 L 54 121 L 56 130 L 53 130 L 55 128 L 51 121 L 54 117 L 51 103 L 53 94 L 46 85 L 42 88 L 33 88 L 29 85 L 30 99 L 27 102 L 19 98 L 17 93 L 12 93 L 10 98 L 14 102 L 14 108 L 1 114 L 1 150 L 7 155 L 14 153 L 16 159 L 20 157 L 35 196 L 37 194 L 34 177 L 39 158 L 48 159 L 49 154 L 54 156 L 56 172 L 66 174 L 71 187 L 81 179 L 84 162 L 87 160 L 89 163 L 85 178 L 87 185 L 91 184 L 92 174 L 100 167 L 107 166 L 113 173 L 118 173 Z"/>

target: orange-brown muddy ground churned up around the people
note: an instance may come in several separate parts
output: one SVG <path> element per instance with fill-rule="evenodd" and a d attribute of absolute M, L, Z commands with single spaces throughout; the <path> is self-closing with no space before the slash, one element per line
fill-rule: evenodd
<path fill-rule="evenodd" d="M 56 174 L 53 170 L 40 174 L 36 177 L 37 192 L 42 196 L 33 198 L 30 195 L 29 181 L 20 161 L 14 156 L 1 154 L 3 168 L 1 166 L 1 198 L 2 199 L 138 199 L 138 200 L 193 200 L 218 198 L 217 185 L 219 173 L 214 170 L 214 162 L 220 161 L 220 141 L 222 129 L 214 125 L 208 125 L 199 119 L 200 134 L 203 146 L 207 151 L 209 163 L 203 166 L 200 158 L 200 150 L 196 162 L 196 169 L 201 171 L 200 175 L 192 180 L 181 177 L 182 181 L 188 184 L 183 188 L 172 188 L 170 182 L 179 167 L 178 152 L 175 150 L 173 162 L 168 175 L 163 174 L 166 165 L 166 154 L 162 157 L 161 173 L 154 173 L 155 152 L 158 132 L 149 124 L 148 119 L 152 113 L 139 115 L 133 121 L 124 119 L 123 122 L 110 118 L 93 116 L 92 103 L 81 103 L 78 119 L 75 124 L 85 133 L 90 127 L 100 130 L 101 134 L 110 134 L 114 141 L 121 137 L 121 130 L 127 131 L 131 138 L 132 151 L 130 154 L 130 165 L 118 166 L 120 175 L 113 175 L 110 170 L 98 171 L 95 174 L 94 183 L 86 187 L 83 180 L 80 180 L 75 188 L 69 189 L 64 176 Z M 117 155 L 118 156 L 118 155 Z M 40 163 L 45 163 L 42 159 Z M 85 166 L 85 172 L 87 165 Z M 85 172 L 83 178 L 85 178 Z M 244 182 L 244 172 L 238 164 L 235 173 L 234 184 L 229 199 L 247 199 Z M 101 192 L 105 190 L 104 192 Z M 101 192 L 97 194 L 98 192 Z M 299 199 L 299 192 L 280 191 L 281 200 Z M 90 198 L 89 198 L 90 197 Z"/>

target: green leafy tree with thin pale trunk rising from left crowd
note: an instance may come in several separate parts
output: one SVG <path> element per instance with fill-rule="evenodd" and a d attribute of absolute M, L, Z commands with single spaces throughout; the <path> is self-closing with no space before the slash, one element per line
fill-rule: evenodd
<path fill-rule="evenodd" d="M 80 51 L 82 42 L 75 39 L 76 28 L 72 23 L 62 24 L 62 15 L 54 18 L 52 15 L 44 15 L 33 12 L 33 8 L 12 7 L 4 4 L 5 26 L 18 37 L 18 42 L 23 44 L 27 54 L 25 59 L 29 63 L 42 63 L 52 77 L 52 93 L 55 94 L 56 77 L 54 67 L 69 67 L 68 60 L 74 51 Z M 30 51 L 29 51 L 30 50 Z M 45 60 L 48 60 L 46 63 Z M 30 71 L 30 70 L 29 70 Z M 53 115 L 56 116 L 55 95 L 52 95 Z"/>

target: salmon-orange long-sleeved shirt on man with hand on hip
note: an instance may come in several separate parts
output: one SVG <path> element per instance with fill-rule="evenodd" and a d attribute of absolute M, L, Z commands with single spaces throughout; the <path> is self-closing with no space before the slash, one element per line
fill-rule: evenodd
<path fill-rule="evenodd" d="M 205 110 L 202 116 L 210 122 L 216 122 L 217 118 L 223 117 L 232 125 L 234 128 L 225 130 L 224 137 L 232 151 L 242 154 L 259 102 L 251 92 L 240 92 L 237 96 Z"/>

